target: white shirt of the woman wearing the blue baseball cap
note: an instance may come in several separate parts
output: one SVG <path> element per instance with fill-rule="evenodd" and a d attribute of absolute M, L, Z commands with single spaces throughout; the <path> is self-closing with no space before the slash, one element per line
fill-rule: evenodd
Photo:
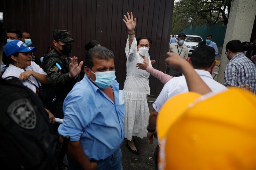
<path fill-rule="evenodd" d="M 41 67 L 39 67 L 39 65 L 37 65 L 33 61 L 31 62 L 31 65 L 26 67 L 25 69 L 26 70 L 32 70 L 32 71 L 35 71 L 37 73 L 47 75 L 47 73 L 44 72 L 44 70 Z M 9 77 L 9 76 L 14 76 L 14 77 L 19 78 L 20 74 L 23 73 L 23 72 L 24 72 L 23 69 L 10 64 L 8 66 L 8 68 L 4 71 L 4 74 L 2 75 L 2 78 L 6 78 L 6 77 Z M 41 85 L 41 83 L 39 81 L 38 81 L 38 83 L 39 83 L 39 85 L 38 85 L 38 83 L 36 81 L 36 78 L 34 78 L 33 76 L 30 76 L 28 78 L 28 80 L 33 82 L 38 87 L 39 87 L 39 85 Z M 26 81 L 22 82 L 22 84 L 27 86 L 28 88 L 30 88 L 34 93 L 36 93 L 36 87 L 32 83 L 30 83 L 29 81 L 26 80 Z"/>

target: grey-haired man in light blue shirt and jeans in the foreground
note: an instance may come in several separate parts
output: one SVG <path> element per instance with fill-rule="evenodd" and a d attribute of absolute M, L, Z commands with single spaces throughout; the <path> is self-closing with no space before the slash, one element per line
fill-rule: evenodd
<path fill-rule="evenodd" d="M 64 100 L 64 120 L 58 129 L 60 141 L 70 136 L 69 169 L 120 170 L 125 110 L 113 52 L 100 46 L 90 49 L 84 72 Z"/>

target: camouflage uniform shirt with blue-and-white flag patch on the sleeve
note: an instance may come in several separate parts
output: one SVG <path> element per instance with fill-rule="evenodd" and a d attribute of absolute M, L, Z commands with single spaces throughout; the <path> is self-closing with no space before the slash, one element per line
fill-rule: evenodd
<path fill-rule="evenodd" d="M 48 81 L 64 98 L 70 92 L 77 81 L 69 78 L 70 57 L 62 56 L 56 49 L 49 52 L 43 60 L 43 70 L 48 74 Z"/>

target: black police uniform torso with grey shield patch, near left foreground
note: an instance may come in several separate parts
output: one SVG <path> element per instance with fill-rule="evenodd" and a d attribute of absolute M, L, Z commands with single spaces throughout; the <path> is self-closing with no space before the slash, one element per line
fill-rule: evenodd
<path fill-rule="evenodd" d="M 57 169 L 58 145 L 43 103 L 15 78 L 0 78 L 0 165 Z"/>

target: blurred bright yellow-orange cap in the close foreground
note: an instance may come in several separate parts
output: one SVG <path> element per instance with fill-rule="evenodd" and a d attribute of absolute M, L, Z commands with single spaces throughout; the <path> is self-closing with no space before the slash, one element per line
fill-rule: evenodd
<path fill-rule="evenodd" d="M 231 88 L 183 93 L 157 116 L 160 170 L 256 169 L 256 97 Z"/>

